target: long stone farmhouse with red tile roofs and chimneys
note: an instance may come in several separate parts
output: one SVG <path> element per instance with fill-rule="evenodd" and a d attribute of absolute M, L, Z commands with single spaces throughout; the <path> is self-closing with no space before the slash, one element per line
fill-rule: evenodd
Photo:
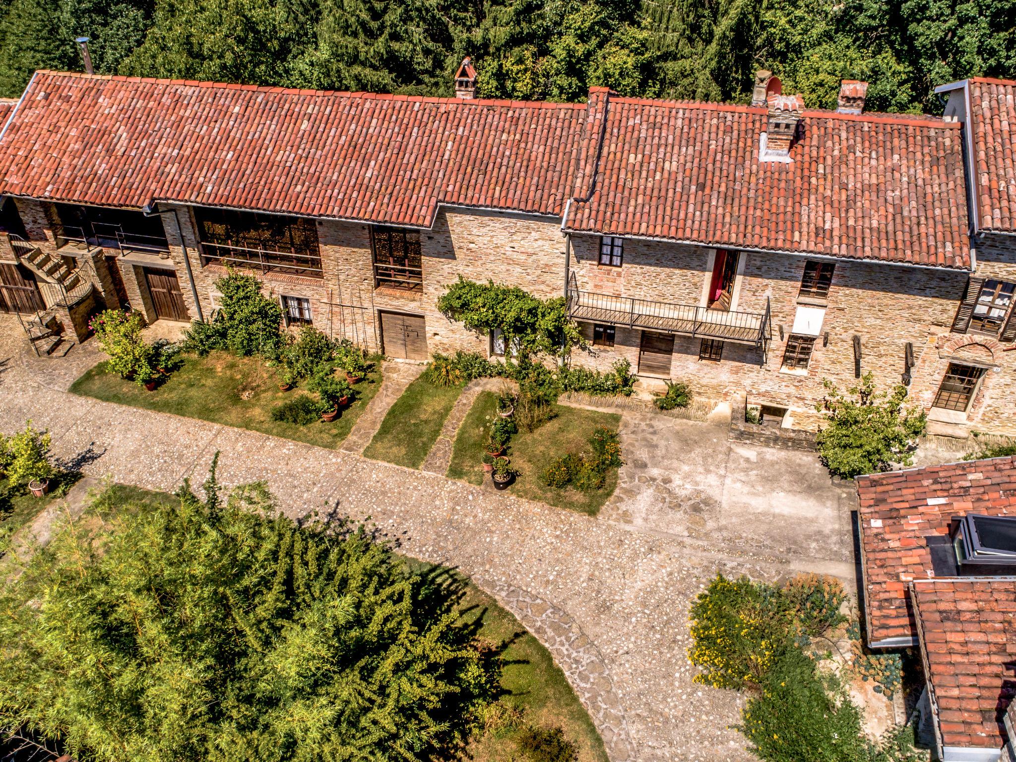
<path fill-rule="evenodd" d="M 565 297 L 645 384 L 814 429 L 823 379 L 902 381 L 934 431 L 1016 435 L 1016 82 L 944 118 L 320 92 L 38 71 L 0 103 L 0 309 L 42 351 L 87 315 L 202 320 L 232 266 L 291 324 L 395 359 L 503 355 L 436 306 L 458 277 Z M 510 354 L 510 348 L 509 348 Z"/>

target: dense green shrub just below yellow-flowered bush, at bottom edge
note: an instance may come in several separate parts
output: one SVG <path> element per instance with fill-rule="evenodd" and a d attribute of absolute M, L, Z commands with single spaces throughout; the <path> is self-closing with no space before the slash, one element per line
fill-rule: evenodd
<path fill-rule="evenodd" d="M 841 691 L 830 697 L 815 662 L 797 647 L 775 661 L 742 721 L 752 751 L 765 762 L 869 759 L 858 707 Z"/>

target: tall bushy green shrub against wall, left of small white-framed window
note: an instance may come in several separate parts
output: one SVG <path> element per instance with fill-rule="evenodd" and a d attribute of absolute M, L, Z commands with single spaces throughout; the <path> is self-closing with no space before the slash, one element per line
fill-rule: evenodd
<path fill-rule="evenodd" d="M 225 324 L 225 344 L 237 355 L 276 359 L 281 350 L 282 309 L 261 293 L 253 275 L 230 271 L 215 281 L 223 295 L 218 315 Z"/>

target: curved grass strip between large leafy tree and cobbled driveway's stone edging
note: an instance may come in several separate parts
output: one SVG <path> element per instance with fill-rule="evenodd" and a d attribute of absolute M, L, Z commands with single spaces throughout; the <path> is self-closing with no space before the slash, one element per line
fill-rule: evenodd
<path fill-rule="evenodd" d="M 607 752 L 589 715 L 568 685 L 561 669 L 543 645 L 497 601 L 456 572 L 406 559 L 420 574 L 452 575 L 453 584 L 464 581 L 458 605 L 461 622 L 479 621 L 477 637 L 501 650 L 501 701 L 521 711 L 521 719 L 543 727 L 560 727 L 578 750 L 579 762 L 607 762 Z M 516 762 L 527 759 L 518 748 L 520 727 L 490 731 L 474 738 L 466 749 L 473 762 Z"/>

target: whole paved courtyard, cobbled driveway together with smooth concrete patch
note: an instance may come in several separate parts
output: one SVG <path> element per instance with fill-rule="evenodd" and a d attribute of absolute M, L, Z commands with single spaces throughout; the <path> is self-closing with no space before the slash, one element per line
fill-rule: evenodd
<path fill-rule="evenodd" d="M 254 432 L 72 395 L 100 356 L 37 359 L 0 316 L 0 430 L 48 428 L 92 477 L 172 490 L 215 451 L 291 514 L 370 517 L 401 550 L 458 567 L 547 644 L 612 760 L 750 760 L 740 698 L 692 683 L 688 608 L 716 572 L 850 580 L 850 490 L 814 456 L 734 445 L 721 427 L 625 412 L 628 464 L 599 518 Z"/>

